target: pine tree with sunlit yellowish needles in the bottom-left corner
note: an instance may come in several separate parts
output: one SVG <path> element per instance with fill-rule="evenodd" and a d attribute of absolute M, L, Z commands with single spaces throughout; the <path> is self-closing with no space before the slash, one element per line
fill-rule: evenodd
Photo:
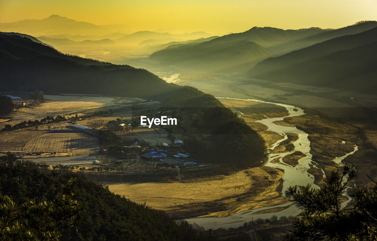
<path fill-rule="evenodd" d="M 58 240 L 62 229 L 76 226 L 81 216 L 76 189 L 71 178 L 52 201 L 30 200 L 21 205 L 0 192 L 0 239 Z"/>

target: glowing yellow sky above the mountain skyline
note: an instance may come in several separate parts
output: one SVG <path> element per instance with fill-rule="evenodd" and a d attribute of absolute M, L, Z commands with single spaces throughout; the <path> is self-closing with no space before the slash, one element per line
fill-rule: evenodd
<path fill-rule="evenodd" d="M 377 0 L 0 0 L 0 23 L 52 14 L 133 30 L 177 28 L 212 34 L 251 27 L 339 28 L 377 20 Z"/>

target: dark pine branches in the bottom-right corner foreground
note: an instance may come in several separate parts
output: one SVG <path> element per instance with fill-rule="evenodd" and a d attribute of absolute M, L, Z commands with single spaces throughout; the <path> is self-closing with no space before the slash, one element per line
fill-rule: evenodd
<path fill-rule="evenodd" d="M 303 209 L 296 217 L 288 240 L 375 240 L 377 188 L 356 188 L 351 194 L 356 202 L 342 208 L 341 197 L 349 181 L 357 176 L 356 167 L 345 165 L 342 171 L 331 171 L 325 185 L 313 189 L 293 186 L 287 196 Z M 377 185 L 376 185 L 377 186 Z"/>

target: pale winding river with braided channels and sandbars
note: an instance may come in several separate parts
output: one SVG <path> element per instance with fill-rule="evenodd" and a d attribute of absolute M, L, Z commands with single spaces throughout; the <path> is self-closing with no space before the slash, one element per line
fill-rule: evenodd
<path fill-rule="evenodd" d="M 261 103 L 271 103 L 279 106 L 283 106 L 287 109 L 289 112 L 290 117 L 300 116 L 305 114 L 304 111 L 296 106 L 292 105 L 285 105 L 281 103 L 274 103 L 274 102 L 265 102 L 261 100 L 254 100 L 254 99 L 237 99 L 237 98 L 227 98 L 227 97 L 216 97 L 218 99 L 232 99 L 232 100 L 244 100 L 244 101 L 251 101 L 251 102 L 261 102 Z M 241 113 L 243 114 L 243 113 Z M 287 116 L 285 116 L 287 117 Z M 280 135 L 284 136 L 284 139 L 279 140 L 273 144 L 271 149 L 279 145 L 280 142 L 287 139 L 287 133 L 296 133 L 298 135 L 298 139 L 293 142 L 294 144 L 294 150 L 291 152 L 284 152 L 284 153 L 278 153 L 278 154 L 269 154 L 268 160 L 264 163 L 265 166 L 273 167 L 273 168 L 279 168 L 284 170 L 284 176 L 283 179 L 283 188 L 282 188 L 282 196 L 285 197 L 285 191 L 289 188 L 289 186 L 294 185 L 300 185 L 305 186 L 307 184 L 311 184 L 313 188 L 318 188 L 316 184 L 314 184 L 314 176 L 310 173 L 308 173 L 308 170 L 310 169 L 310 165 L 313 165 L 314 168 L 317 168 L 317 163 L 312 161 L 312 155 L 310 154 L 310 141 L 308 139 L 308 134 L 305 133 L 302 130 L 297 129 L 296 127 L 290 127 L 290 126 L 280 126 L 277 124 L 274 124 L 274 121 L 281 121 L 285 117 L 276 117 L 276 118 L 267 118 L 263 120 L 259 120 L 257 122 L 262 123 L 268 127 L 268 130 L 271 130 L 273 132 L 279 133 Z M 298 161 L 298 165 L 295 167 L 280 162 L 281 159 L 289 154 L 294 153 L 295 151 L 300 151 L 304 153 L 306 156 L 301 158 Z M 348 155 L 352 155 L 354 152 L 357 151 L 357 146 L 355 145 L 354 151 L 347 153 L 344 156 L 337 157 L 334 161 L 342 165 L 342 160 L 346 158 Z M 279 162 L 271 162 L 271 160 L 279 158 Z M 309 165 L 310 164 L 310 165 Z M 323 173 L 323 176 L 325 177 L 325 172 L 320 169 Z M 346 206 L 346 204 L 351 200 L 348 195 L 348 200 L 346 202 L 342 203 L 342 207 Z M 261 214 L 255 214 L 258 211 L 271 209 L 271 208 L 277 208 L 277 207 L 286 207 L 285 209 L 277 212 L 269 212 L 269 213 L 261 213 Z M 292 202 L 280 204 L 276 203 L 274 205 L 265 206 L 262 208 L 257 208 L 253 210 L 247 210 L 242 211 L 234 215 L 230 215 L 228 217 L 202 217 L 202 218 L 189 218 L 187 221 L 192 223 L 197 223 L 204 227 L 205 229 L 209 228 L 228 228 L 228 227 L 239 227 L 242 226 L 244 222 L 251 221 L 252 219 L 256 220 L 257 218 L 270 218 L 272 215 L 276 215 L 277 217 L 280 216 L 288 216 L 288 215 L 297 215 L 300 213 L 300 209 L 293 205 Z"/>

